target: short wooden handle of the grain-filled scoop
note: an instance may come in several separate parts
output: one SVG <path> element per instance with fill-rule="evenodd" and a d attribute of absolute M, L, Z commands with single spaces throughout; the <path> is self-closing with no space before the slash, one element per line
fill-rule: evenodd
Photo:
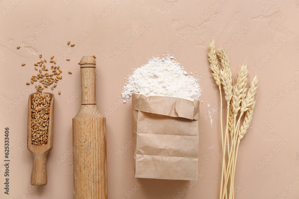
<path fill-rule="evenodd" d="M 34 186 L 43 186 L 47 184 L 47 169 L 46 169 L 46 160 L 47 160 L 48 151 L 42 153 L 41 155 L 36 155 L 32 153 L 33 164 L 31 172 L 31 185 Z"/>

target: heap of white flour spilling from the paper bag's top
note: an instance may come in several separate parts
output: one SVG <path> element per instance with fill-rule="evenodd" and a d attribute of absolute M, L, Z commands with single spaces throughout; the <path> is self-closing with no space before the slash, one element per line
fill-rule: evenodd
<path fill-rule="evenodd" d="M 193 76 L 187 76 L 187 72 L 173 57 L 156 57 L 129 76 L 121 97 L 128 101 L 132 93 L 139 93 L 145 96 L 167 96 L 193 101 L 198 100 L 201 95 L 197 82 Z"/>

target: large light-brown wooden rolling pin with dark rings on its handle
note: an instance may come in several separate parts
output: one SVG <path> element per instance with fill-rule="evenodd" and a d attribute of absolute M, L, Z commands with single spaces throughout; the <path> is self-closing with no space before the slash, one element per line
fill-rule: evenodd
<path fill-rule="evenodd" d="M 95 100 L 96 61 L 80 61 L 81 107 L 73 118 L 74 199 L 107 199 L 106 118 Z"/>

